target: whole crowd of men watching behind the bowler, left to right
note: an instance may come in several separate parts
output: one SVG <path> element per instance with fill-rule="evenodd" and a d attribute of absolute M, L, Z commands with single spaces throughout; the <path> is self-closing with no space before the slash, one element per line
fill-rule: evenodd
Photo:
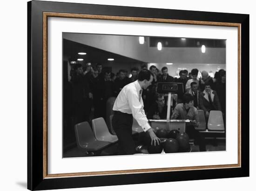
<path fill-rule="evenodd" d="M 144 64 L 141 70 L 147 69 Z M 209 76 L 207 71 L 202 71 L 202 77 L 198 78 L 198 70 L 181 70 L 179 77 L 168 74 L 168 68 L 162 67 L 161 72 L 155 65 L 149 70 L 154 75 L 152 85 L 142 91 L 144 110 L 148 119 L 166 119 L 167 95 L 158 94 L 156 87 L 158 82 L 175 82 L 183 84 L 183 93 L 190 94 L 194 99 L 194 107 L 202 109 L 206 120 L 211 110 L 220 110 L 225 119 L 226 112 L 226 71 L 219 70 L 214 78 Z M 93 69 L 90 63 L 83 68 L 76 64 L 71 72 L 72 84 L 72 110 L 75 122 L 90 121 L 92 118 L 103 117 L 106 120 L 106 103 L 110 97 L 117 97 L 121 89 L 128 83 L 138 79 L 138 68 L 131 69 L 131 77 L 128 71 L 119 70 L 117 74 L 108 70 L 102 70 L 101 64 L 96 64 Z M 183 96 L 183 95 L 182 95 Z M 174 95 L 172 111 L 177 104 L 182 102 L 182 96 Z M 92 112 L 93 111 L 93 112 Z"/>

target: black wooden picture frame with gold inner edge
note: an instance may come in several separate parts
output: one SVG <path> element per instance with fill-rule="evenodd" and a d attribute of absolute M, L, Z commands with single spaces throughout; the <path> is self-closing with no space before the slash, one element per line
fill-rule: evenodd
<path fill-rule="evenodd" d="M 30 1 L 28 6 L 27 188 L 47 190 L 249 176 L 249 15 Z M 47 19 L 103 19 L 238 28 L 238 163 L 104 172 L 47 172 Z M 243 84 L 243 86 L 242 86 Z"/>

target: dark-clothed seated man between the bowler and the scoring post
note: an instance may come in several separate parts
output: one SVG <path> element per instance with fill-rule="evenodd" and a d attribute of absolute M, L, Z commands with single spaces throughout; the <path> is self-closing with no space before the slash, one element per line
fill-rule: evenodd
<path fill-rule="evenodd" d="M 164 104 L 163 94 L 155 94 L 155 102 L 150 105 L 148 109 L 147 118 L 148 119 L 166 119 L 167 115 L 167 105 Z"/>

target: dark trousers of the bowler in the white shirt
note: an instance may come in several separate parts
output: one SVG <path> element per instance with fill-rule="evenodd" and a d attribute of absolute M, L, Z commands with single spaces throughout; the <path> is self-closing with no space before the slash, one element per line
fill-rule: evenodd
<path fill-rule="evenodd" d="M 133 115 L 115 111 L 112 126 L 118 137 L 119 154 L 134 154 L 135 143 L 132 137 Z"/>

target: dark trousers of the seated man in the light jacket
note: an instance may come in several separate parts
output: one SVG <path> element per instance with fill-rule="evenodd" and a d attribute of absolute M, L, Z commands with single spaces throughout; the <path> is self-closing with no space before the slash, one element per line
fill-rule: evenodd
<path fill-rule="evenodd" d="M 199 145 L 200 151 L 206 151 L 204 136 L 194 126 L 187 126 L 186 133 L 189 135 L 189 138 L 195 139 L 195 144 Z"/>

